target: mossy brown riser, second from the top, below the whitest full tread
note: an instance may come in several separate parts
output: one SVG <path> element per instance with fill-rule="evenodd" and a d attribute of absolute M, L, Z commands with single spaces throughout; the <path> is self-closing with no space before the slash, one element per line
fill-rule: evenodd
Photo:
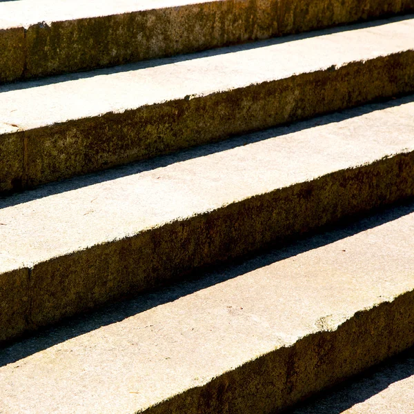
<path fill-rule="evenodd" d="M 3 135 L 0 191 L 21 190 L 414 91 L 414 51 L 195 99 Z"/>

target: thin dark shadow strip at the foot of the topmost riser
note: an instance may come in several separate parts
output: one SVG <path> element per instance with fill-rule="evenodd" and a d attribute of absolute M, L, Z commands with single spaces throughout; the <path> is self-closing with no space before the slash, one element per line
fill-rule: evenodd
<path fill-rule="evenodd" d="M 334 28 L 328 28 L 324 30 L 315 30 L 312 32 L 304 32 L 300 34 L 291 34 L 284 37 L 276 37 L 273 39 L 250 41 L 249 43 L 242 43 L 233 46 L 225 46 L 221 48 L 215 48 L 210 50 L 204 50 L 203 52 L 189 53 L 188 55 L 178 55 L 174 57 L 165 57 L 161 59 L 152 59 L 148 61 L 140 61 L 137 63 L 127 63 L 121 66 L 115 66 L 112 68 L 101 68 L 95 70 L 88 70 L 86 72 L 75 72 L 64 75 L 57 75 L 52 77 L 46 77 L 33 81 L 8 83 L 0 87 L 1 92 L 8 92 L 11 90 L 21 90 L 29 88 L 37 88 L 38 86 L 52 85 L 55 83 L 62 83 L 66 81 L 73 81 L 77 79 L 87 79 L 96 76 L 112 75 L 121 72 L 131 72 L 139 69 L 155 68 L 157 66 L 169 65 L 170 63 L 179 63 L 184 61 L 190 61 L 195 59 L 202 59 L 204 57 L 211 57 L 217 55 L 227 55 L 228 53 L 242 52 L 244 50 L 252 50 L 258 48 L 265 48 L 267 46 L 278 45 L 282 43 L 297 41 L 301 39 L 311 39 L 312 37 L 325 36 L 326 34 L 333 34 L 339 32 L 349 32 L 351 30 L 358 30 L 363 28 L 374 28 L 377 26 L 383 26 L 384 24 L 414 19 L 414 14 L 405 14 L 402 16 L 390 17 L 388 19 L 381 19 L 375 21 L 366 21 L 364 23 L 352 23 L 345 26 L 337 26 Z"/>

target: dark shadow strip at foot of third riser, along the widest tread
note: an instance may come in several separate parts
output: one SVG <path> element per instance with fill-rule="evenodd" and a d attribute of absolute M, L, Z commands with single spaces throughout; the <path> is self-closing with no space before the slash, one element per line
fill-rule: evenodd
<path fill-rule="evenodd" d="M 128 317 L 148 311 L 151 308 L 173 302 L 180 297 L 191 295 L 199 290 L 215 286 L 255 269 L 279 262 L 288 257 L 300 255 L 309 250 L 326 246 L 351 235 L 363 232 L 369 228 L 381 226 L 405 215 L 414 213 L 414 200 L 393 208 L 377 210 L 371 215 L 358 221 L 342 222 L 334 227 L 327 227 L 319 233 L 303 237 L 295 244 L 285 248 L 272 248 L 256 255 L 237 259 L 231 263 L 215 268 L 197 269 L 185 282 L 170 284 L 158 290 L 143 293 L 134 299 L 117 302 L 98 311 L 74 317 L 61 322 L 59 325 L 45 329 L 33 337 L 0 349 L 0 366 L 17 362 L 50 348 L 55 344 L 66 342 L 68 339 L 95 331 L 101 326 L 115 324 Z"/>

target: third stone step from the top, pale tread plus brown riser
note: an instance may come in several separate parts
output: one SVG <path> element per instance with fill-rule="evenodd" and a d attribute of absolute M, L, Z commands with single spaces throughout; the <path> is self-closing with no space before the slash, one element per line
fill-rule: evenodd
<path fill-rule="evenodd" d="M 0 199 L 0 340 L 414 195 L 414 97 Z"/>

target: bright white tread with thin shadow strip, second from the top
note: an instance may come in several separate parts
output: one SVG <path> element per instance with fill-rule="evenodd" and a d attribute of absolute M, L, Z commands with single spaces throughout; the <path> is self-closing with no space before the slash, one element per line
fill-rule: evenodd
<path fill-rule="evenodd" d="M 2 130 L 191 99 L 414 49 L 414 19 L 382 23 L 2 86 Z"/>

